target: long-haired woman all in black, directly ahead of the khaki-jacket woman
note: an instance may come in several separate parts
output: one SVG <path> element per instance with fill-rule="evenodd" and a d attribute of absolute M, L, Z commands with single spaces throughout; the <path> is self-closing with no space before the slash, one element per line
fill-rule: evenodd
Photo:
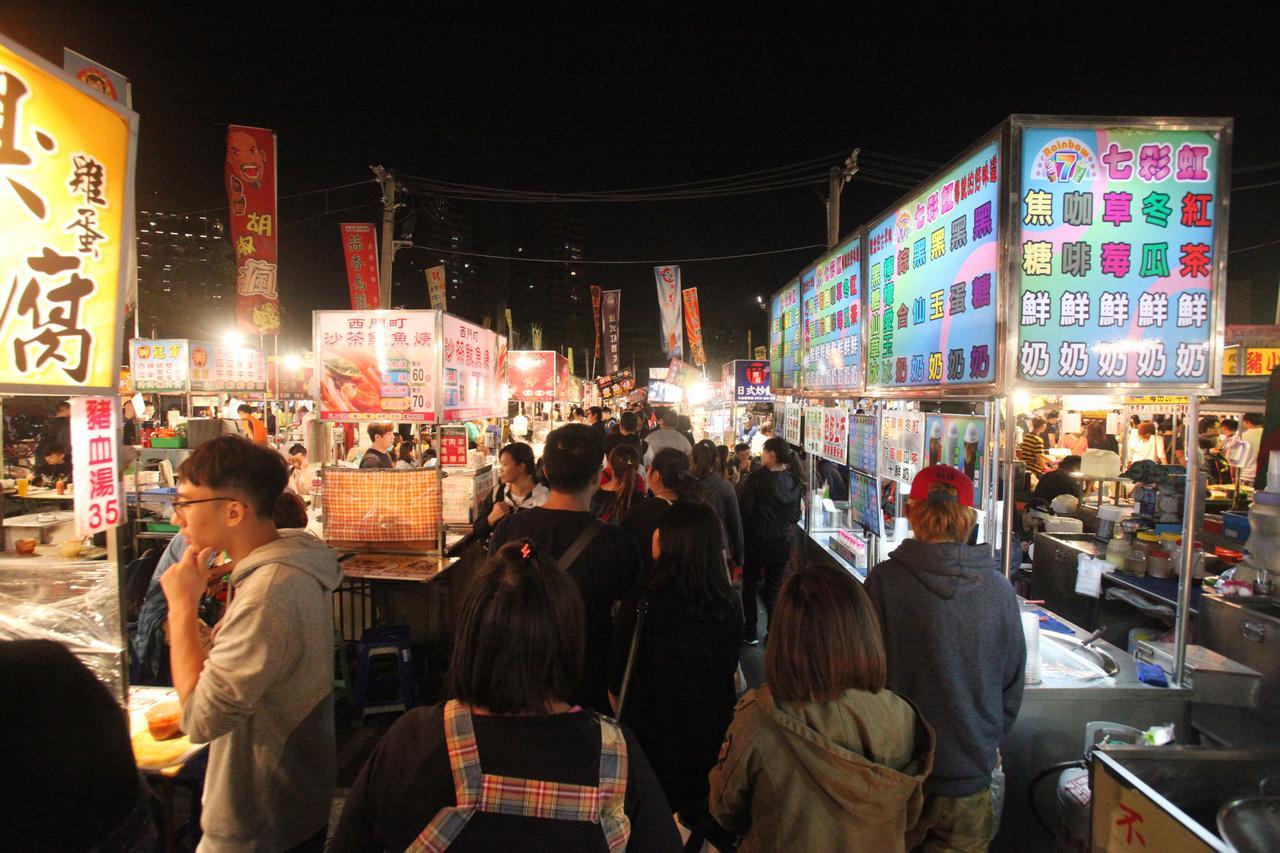
<path fill-rule="evenodd" d="M 609 649 L 617 710 L 631 643 L 636 658 L 622 708 L 671 808 L 690 829 L 707 817 L 707 774 L 733 716 L 742 612 L 705 503 L 671 505 L 649 551 L 653 571 L 618 607 Z M 644 611 L 636 637 L 637 611 Z"/>

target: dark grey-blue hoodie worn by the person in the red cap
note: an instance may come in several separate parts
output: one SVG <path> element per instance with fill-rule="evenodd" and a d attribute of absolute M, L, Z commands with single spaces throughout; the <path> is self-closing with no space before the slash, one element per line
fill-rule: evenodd
<path fill-rule="evenodd" d="M 888 688 L 937 733 L 925 793 L 979 793 L 1023 703 L 1027 646 L 1012 587 L 988 546 L 906 539 L 872 569 L 867 593 L 884 633 Z"/>

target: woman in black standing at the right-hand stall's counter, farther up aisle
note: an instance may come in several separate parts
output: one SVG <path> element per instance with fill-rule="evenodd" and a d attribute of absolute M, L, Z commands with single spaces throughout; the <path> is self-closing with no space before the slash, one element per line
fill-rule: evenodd
<path fill-rule="evenodd" d="M 782 580 L 796 540 L 804 483 L 795 470 L 795 453 L 785 438 L 774 435 L 764 442 L 760 452 L 763 467 L 748 478 L 739 500 L 742 529 L 746 532 L 746 555 L 742 566 L 742 642 L 756 646 L 756 589 L 764 576 L 764 610 L 773 613 Z"/>

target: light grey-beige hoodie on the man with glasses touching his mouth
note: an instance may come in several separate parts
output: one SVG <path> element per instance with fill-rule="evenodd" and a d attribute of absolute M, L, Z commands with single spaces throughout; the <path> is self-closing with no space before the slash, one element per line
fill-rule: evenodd
<path fill-rule="evenodd" d="M 232 571 L 234 590 L 182 730 L 209 743 L 201 853 L 284 850 L 329 820 L 337 776 L 337 552 L 282 530 Z"/>

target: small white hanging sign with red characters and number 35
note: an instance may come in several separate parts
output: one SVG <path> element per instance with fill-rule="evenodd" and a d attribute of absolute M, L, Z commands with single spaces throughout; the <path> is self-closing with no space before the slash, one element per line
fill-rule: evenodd
<path fill-rule="evenodd" d="M 72 484 L 76 535 L 87 537 L 124 520 L 124 488 L 116 460 L 119 397 L 72 397 Z"/>

